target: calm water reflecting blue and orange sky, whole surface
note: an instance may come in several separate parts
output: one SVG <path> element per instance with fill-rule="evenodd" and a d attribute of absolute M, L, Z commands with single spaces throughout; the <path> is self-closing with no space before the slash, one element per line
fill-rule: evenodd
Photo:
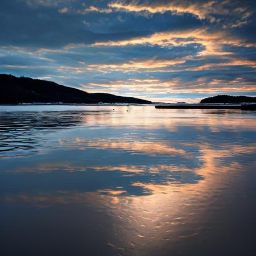
<path fill-rule="evenodd" d="M 255 255 L 255 150 L 256 112 L 0 106 L 1 254 Z"/>

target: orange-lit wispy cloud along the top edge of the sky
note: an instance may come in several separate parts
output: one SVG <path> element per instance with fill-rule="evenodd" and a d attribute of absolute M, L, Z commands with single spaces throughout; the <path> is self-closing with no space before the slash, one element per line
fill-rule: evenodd
<path fill-rule="evenodd" d="M 236 17 L 240 26 L 246 24 L 245 20 L 253 13 L 249 6 L 242 5 L 238 1 L 117 1 L 108 4 L 116 11 L 133 13 L 164 14 L 170 12 L 172 15 L 191 14 L 198 19 L 208 19 L 210 22 L 220 22 L 222 16 Z M 241 18 L 242 17 L 242 18 Z"/>

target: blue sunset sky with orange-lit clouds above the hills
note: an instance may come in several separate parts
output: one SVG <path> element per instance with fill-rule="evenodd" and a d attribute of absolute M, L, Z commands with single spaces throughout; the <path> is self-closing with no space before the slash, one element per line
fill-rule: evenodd
<path fill-rule="evenodd" d="M 256 96 L 255 2 L 2 0 L 0 73 L 158 102 Z"/>

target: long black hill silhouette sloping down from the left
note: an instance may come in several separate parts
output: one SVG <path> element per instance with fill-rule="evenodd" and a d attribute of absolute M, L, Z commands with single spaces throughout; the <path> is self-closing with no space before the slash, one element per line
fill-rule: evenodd
<path fill-rule="evenodd" d="M 109 93 L 87 93 L 83 90 L 56 84 L 56 82 L 0 74 L 0 104 L 17 104 L 19 102 L 152 103 L 139 98 L 115 96 Z"/>

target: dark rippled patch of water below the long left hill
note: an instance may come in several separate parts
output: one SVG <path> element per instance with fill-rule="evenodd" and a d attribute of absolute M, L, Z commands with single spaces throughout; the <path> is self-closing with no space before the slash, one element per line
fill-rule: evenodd
<path fill-rule="evenodd" d="M 0 151 L 31 150 L 39 147 L 46 141 L 48 133 L 81 126 L 84 123 L 82 117 L 92 113 L 108 114 L 108 111 L 0 112 Z M 15 153 L 2 156 L 15 156 Z"/>

